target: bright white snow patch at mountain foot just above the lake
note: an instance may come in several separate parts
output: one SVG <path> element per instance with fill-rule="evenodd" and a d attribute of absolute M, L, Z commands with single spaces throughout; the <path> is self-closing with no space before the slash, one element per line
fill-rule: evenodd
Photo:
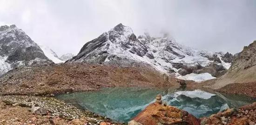
<path fill-rule="evenodd" d="M 201 74 L 191 73 L 191 74 L 184 75 L 184 76 L 178 76 L 177 78 L 182 79 L 182 80 L 193 80 L 193 81 L 200 82 L 200 81 L 215 79 L 216 77 L 213 77 L 209 73 L 201 73 Z"/>

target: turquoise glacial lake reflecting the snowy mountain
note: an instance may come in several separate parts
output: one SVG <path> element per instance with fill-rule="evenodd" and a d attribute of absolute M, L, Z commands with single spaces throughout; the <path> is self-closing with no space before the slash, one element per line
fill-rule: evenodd
<path fill-rule="evenodd" d="M 240 107 L 256 101 L 255 98 L 195 90 L 157 88 L 104 88 L 100 91 L 60 94 L 56 98 L 119 122 L 128 122 L 157 94 L 168 105 L 183 109 L 197 118 L 210 116 L 226 108 Z"/>

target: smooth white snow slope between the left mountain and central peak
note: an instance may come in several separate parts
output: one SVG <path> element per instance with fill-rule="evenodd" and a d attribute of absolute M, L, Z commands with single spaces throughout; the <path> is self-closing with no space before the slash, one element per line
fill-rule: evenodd
<path fill-rule="evenodd" d="M 56 52 L 54 52 L 54 50 L 52 50 L 51 48 L 47 47 L 47 46 L 43 46 L 40 45 L 40 48 L 43 50 L 45 56 L 47 56 L 50 60 L 52 60 L 54 63 L 64 63 L 64 61 L 62 61 L 58 55 L 56 54 Z"/>

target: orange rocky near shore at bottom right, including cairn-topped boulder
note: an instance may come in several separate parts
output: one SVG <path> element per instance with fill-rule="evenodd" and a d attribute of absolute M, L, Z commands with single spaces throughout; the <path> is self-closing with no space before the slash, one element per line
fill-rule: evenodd
<path fill-rule="evenodd" d="M 157 95 L 156 101 L 128 125 L 256 125 L 256 102 L 197 119 L 184 110 L 162 103 L 161 95 Z"/>

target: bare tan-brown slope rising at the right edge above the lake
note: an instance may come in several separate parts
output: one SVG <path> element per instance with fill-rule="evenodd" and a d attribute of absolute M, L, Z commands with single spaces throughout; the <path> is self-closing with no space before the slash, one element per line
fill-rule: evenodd
<path fill-rule="evenodd" d="M 206 86 L 218 89 L 231 83 L 248 83 L 244 85 L 250 85 L 255 83 L 255 81 L 256 41 L 254 41 L 252 44 L 249 44 L 249 46 L 245 46 L 243 48 L 243 51 L 236 55 L 231 67 L 225 75 L 222 75 L 220 78 L 214 81 L 208 81 Z M 233 85 L 240 86 L 240 84 Z"/>

